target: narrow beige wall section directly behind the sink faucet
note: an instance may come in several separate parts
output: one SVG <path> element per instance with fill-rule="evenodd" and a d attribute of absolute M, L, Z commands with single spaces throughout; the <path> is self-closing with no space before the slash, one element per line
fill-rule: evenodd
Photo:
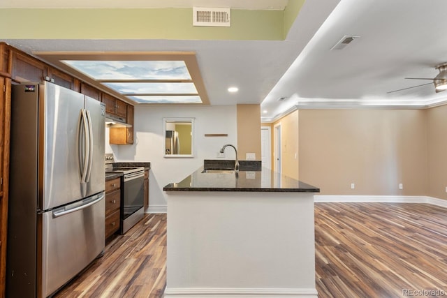
<path fill-rule="evenodd" d="M 261 161 L 261 105 L 237 105 L 237 158 L 247 153 Z"/>

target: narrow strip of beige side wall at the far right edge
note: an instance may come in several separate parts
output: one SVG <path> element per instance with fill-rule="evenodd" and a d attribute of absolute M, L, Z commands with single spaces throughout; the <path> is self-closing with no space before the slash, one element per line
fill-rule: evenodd
<path fill-rule="evenodd" d="M 447 199 L 447 105 L 427 110 L 428 191 Z"/>

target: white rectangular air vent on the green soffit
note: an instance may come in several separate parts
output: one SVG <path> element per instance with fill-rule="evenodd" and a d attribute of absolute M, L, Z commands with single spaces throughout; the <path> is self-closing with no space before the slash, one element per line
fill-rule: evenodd
<path fill-rule="evenodd" d="M 230 27 L 230 8 L 193 7 L 193 26 Z"/>

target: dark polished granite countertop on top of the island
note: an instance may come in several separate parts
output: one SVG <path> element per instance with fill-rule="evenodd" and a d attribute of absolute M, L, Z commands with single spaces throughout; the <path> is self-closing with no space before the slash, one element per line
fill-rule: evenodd
<path fill-rule="evenodd" d="M 234 164 L 234 163 L 233 163 Z M 210 167 L 205 167 L 210 168 Z M 178 183 L 166 185 L 164 191 L 251 191 L 319 193 L 320 189 L 302 181 L 273 172 L 265 167 L 262 170 L 240 171 L 235 173 L 205 173 L 204 167 Z"/>

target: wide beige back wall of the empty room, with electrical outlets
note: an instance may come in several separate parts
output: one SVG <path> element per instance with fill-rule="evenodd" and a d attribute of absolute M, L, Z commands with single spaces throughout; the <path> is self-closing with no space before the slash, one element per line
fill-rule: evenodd
<path fill-rule="evenodd" d="M 427 110 L 299 114 L 300 180 L 322 195 L 426 195 Z"/>

